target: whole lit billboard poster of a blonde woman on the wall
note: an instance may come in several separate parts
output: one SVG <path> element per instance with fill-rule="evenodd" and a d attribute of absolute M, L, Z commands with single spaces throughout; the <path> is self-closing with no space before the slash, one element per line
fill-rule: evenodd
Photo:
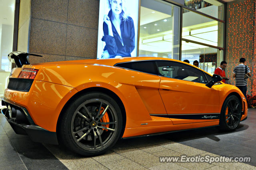
<path fill-rule="evenodd" d="M 137 56 L 139 0 L 100 0 L 97 58 Z"/>

